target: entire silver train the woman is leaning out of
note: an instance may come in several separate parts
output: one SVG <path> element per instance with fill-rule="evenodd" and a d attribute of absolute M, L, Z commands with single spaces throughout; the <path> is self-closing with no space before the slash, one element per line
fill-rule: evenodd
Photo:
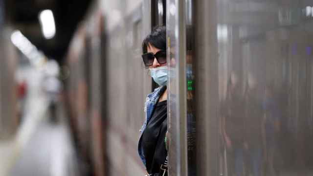
<path fill-rule="evenodd" d="M 172 63 L 170 176 L 313 172 L 313 2 L 98 0 L 89 14 L 68 54 L 68 91 L 97 175 L 146 174 L 136 146 L 156 84 L 140 54 L 156 25 Z"/>

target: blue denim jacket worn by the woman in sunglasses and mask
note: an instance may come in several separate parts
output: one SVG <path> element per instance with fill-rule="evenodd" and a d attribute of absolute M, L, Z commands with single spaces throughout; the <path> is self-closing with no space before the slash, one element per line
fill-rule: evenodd
<path fill-rule="evenodd" d="M 164 92 L 165 88 L 166 88 L 166 86 L 156 88 L 152 93 L 148 94 L 148 96 L 146 98 L 145 107 L 144 107 L 146 120 L 143 123 L 141 130 L 139 130 L 140 138 L 138 141 L 138 154 L 139 154 L 144 165 L 146 165 L 146 159 L 145 159 L 145 156 L 143 154 L 143 148 L 141 146 L 142 133 L 146 129 L 147 123 L 151 119 L 151 115 L 152 115 L 153 110 L 155 109 L 155 105 L 158 101 L 158 98 L 160 97 L 161 93 Z"/>

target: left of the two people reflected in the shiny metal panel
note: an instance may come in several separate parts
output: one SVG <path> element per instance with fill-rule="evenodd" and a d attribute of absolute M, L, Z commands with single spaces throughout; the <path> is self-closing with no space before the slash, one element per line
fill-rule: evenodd
<path fill-rule="evenodd" d="M 223 105 L 222 132 L 226 144 L 227 169 L 230 175 L 243 175 L 244 167 L 244 110 L 243 97 L 235 74 L 231 75 L 227 85 L 226 99 Z"/>

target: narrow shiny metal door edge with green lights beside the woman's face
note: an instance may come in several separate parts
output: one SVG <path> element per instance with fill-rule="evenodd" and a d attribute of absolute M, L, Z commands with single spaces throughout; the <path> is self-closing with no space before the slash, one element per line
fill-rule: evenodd
<path fill-rule="evenodd" d="M 169 175 L 195 176 L 193 0 L 167 0 Z"/>

